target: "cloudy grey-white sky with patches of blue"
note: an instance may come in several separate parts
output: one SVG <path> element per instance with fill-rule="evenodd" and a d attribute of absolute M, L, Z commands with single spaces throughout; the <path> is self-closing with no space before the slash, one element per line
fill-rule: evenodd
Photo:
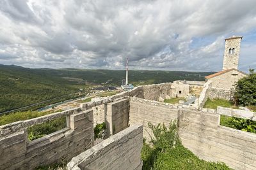
<path fill-rule="evenodd" d="M 225 38 L 243 36 L 256 68 L 256 1 L 0 0 L 0 64 L 220 71 Z"/>

